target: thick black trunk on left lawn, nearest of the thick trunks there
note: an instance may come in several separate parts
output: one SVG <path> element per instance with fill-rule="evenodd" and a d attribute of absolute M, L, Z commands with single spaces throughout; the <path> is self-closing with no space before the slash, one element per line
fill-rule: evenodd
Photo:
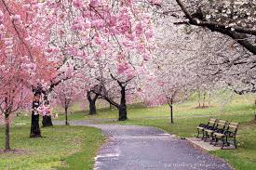
<path fill-rule="evenodd" d="M 39 104 L 39 100 L 33 101 L 30 137 L 42 137 L 39 127 L 39 114 L 35 111 L 39 107 Z"/>

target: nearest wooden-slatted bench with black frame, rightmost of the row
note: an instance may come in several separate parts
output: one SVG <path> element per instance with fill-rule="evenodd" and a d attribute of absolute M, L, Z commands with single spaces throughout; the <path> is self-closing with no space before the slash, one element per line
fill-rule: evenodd
<path fill-rule="evenodd" d="M 214 132 L 213 133 L 213 139 L 215 141 L 215 146 L 218 142 L 218 140 L 222 140 L 222 149 L 224 147 L 224 145 L 229 146 L 230 145 L 230 141 L 228 140 L 229 138 L 233 138 L 233 144 L 235 146 L 235 148 L 237 148 L 236 146 L 236 132 L 238 129 L 238 123 L 229 123 L 227 126 L 227 129 L 224 130 L 223 132 Z"/>

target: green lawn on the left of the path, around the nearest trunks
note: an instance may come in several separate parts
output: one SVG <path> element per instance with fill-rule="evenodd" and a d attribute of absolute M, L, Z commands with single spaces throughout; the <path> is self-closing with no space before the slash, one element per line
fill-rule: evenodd
<path fill-rule="evenodd" d="M 41 128 L 42 138 L 30 138 L 30 126 L 13 126 L 10 145 L 18 152 L 0 152 L 0 169 L 92 169 L 97 150 L 104 142 L 99 129 L 83 126 Z M 4 149 L 0 127 L 0 149 Z"/>

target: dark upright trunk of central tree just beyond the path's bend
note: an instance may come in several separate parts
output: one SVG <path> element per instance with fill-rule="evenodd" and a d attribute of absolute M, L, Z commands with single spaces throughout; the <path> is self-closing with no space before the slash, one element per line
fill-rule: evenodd
<path fill-rule="evenodd" d="M 118 110 L 119 110 L 118 121 L 126 121 L 128 119 L 128 112 L 127 112 L 126 87 L 125 86 L 121 86 L 121 102 L 118 107 Z"/>

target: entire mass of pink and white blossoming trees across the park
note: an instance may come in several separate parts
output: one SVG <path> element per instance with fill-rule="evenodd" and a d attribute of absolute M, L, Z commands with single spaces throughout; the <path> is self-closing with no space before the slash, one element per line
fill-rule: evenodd
<path fill-rule="evenodd" d="M 88 98 L 91 114 L 102 98 L 125 121 L 127 100 L 138 96 L 168 103 L 172 115 L 173 103 L 195 89 L 255 92 L 254 2 L 237 2 L 1 0 L 6 150 L 9 115 L 33 98 L 59 98 L 66 113 Z M 31 137 L 41 137 L 38 121 L 33 112 Z"/>

